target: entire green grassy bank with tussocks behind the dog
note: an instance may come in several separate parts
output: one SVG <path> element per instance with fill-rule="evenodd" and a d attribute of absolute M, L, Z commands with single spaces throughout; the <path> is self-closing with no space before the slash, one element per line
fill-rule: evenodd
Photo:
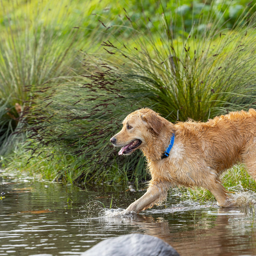
<path fill-rule="evenodd" d="M 95 9 L 92 1 L 83 16 L 82 2 L 77 9 L 61 3 L 42 12 L 38 5 L 38 20 L 17 6 L 6 11 L 13 17 L 5 15 L 0 38 L 0 115 L 12 133 L 6 108 L 18 116 L 20 103 L 26 129 L 12 136 L 25 133 L 27 142 L 2 158 L 2 167 L 70 183 L 140 182 L 149 178 L 144 158 L 120 157 L 109 143 L 127 113 L 148 106 L 175 122 L 255 106 L 255 5 L 150 2 L 139 9 L 123 2 L 103 8 L 102 1 Z"/>

